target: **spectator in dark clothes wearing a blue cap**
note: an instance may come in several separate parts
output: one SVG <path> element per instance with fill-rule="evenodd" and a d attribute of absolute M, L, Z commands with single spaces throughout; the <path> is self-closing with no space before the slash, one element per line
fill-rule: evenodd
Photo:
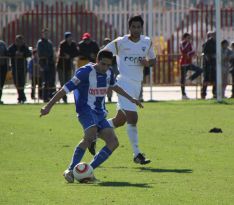
<path fill-rule="evenodd" d="M 61 87 L 71 78 L 73 70 L 73 58 L 78 56 L 76 42 L 72 40 L 71 32 L 64 33 L 64 40 L 59 44 L 58 51 L 58 77 Z M 67 96 L 63 97 L 64 103 L 67 103 Z"/>

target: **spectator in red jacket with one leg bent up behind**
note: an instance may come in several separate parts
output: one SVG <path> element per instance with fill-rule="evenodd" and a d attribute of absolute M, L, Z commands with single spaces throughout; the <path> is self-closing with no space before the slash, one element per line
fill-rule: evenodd
<path fill-rule="evenodd" d="M 202 69 L 192 63 L 192 58 L 195 55 L 195 51 L 192 46 L 192 37 L 189 33 L 184 33 L 182 36 L 182 41 L 180 43 L 180 66 L 181 66 L 181 92 L 182 99 L 189 99 L 185 92 L 185 81 L 186 74 L 189 70 L 194 71 L 194 73 L 188 78 L 188 80 L 193 81 L 202 73 Z"/>

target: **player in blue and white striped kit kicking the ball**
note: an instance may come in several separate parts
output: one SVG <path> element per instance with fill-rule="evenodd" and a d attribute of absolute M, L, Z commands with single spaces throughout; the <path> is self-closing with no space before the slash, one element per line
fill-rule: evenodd
<path fill-rule="evenodd" d="M 93 169 L 106 161 L 118 147 L 118 139 L 106 120 L 105 96 L 108 87 L 112 87 L 115 92 L 132 103 L 143 107 L 139 100 L 132 98 L 115 84 L 114 74 L 109 69 L 112 64 L 112 57 L 113 54 L 110 51 L 100 51 L 96 64 L 90 63 L 78 69 L 73 78 L 41 109 L 41 116 L 48 114 L 53 105 L 66 93 L 74 91 L 76 112 L 84 129 L 84 137 L 74 151 L 71 164 L 64 172 L 64 178 L 68 183 L 74 182 L 72 170 L 83 158 L 86 148 L 96 138 L 97 132 L 106 145 L 94 156 L 90 163 Z"/>

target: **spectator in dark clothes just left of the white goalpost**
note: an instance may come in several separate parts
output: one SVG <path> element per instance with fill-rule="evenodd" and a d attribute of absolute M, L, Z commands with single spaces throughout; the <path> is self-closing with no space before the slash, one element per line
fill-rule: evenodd
<path fill-rule="evenodd" d="M 216 98 L 216 34 L 214 31 L 207 33 L 207 40 L 202 45 L 203 50 L 203 84 L 201 98 L 206 98 L 207 86 L 212 84 L 213 98 Z"/>

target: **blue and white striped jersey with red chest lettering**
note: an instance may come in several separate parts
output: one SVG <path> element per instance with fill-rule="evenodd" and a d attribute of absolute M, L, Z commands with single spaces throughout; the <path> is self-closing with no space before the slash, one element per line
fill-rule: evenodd
<path fill-rule="evenodd" d="M 111 69 L 102 74 L 93 66 L 94 64 L 89 63 L 79 68 L 72 79 L 63 86 L 66 93 L 74 91 L 76 112 L 79 114 L 90 108 L 98 113 L 106 112 L 107 89 L 115 84 Z"/>

